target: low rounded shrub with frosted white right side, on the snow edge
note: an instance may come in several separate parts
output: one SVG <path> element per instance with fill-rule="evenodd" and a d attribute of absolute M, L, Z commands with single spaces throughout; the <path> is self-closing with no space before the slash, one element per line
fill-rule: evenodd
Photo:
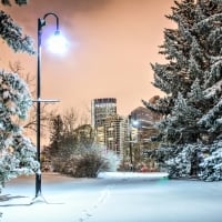
<path fill-rule="evenodd" d="M 63 159 L 61 155 L 52 159 L 52 170 L 75 178 L 95 178 L 101 171 L 117 171 L 120 158 L 112 151 L 105 151 L 100 145 L 75 150 Z"/>

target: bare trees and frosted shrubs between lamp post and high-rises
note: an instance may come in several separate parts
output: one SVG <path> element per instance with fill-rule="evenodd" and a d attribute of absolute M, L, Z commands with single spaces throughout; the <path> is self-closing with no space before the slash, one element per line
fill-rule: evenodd
<path fill-rule="evenodd" d="M 117 170 L 118 157 L 97 143 L 90 124 L 78 125 L 77 122 L 74 109 L 51 114 L 50 142 L 42 152 L 42 171 L 94 178 L 100 171 Z"/>

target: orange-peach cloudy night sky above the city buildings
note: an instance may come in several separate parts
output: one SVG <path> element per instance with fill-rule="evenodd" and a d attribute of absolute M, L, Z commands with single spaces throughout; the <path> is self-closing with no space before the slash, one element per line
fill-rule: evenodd
<path fill-rule="evenodd" d="M 53 11 L 69 39 L 65 56 L 50 54 L 44 36 L 54 20 L 47 19 L 42 37 L 42 99 L 59 99 L 57 107 L 61 110 L 75 108 L 87 112 L 92 99 L 113 97 L 118 100 L 118 113 L 128 115 L 142 105 L 141 99 L 160 94 L 151 84 L 150 62 L 164 61 L 158 54 L 158 46 L 163 43 L 164 28 L 173 26 L 164 17 L 172 6 L 173 0 L 30 0 L 27 7 L 7 10 L 34 40 L 37 19 Z M 0 67 L 6 69 L 9 60 L 19 60 L 24 72 L 36 77 L 37 57 L 13 56 L 2 46 Z"/>

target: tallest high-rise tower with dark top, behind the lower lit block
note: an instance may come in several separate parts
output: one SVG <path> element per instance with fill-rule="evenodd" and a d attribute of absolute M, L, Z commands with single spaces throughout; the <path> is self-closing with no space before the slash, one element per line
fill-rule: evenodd
<path fill-rule="evenodd" d="M 103 127 L 104 120 L 117 114 L 117 99 L 101 98 L 91 102 L 91 122 L 94 129 Z"/>

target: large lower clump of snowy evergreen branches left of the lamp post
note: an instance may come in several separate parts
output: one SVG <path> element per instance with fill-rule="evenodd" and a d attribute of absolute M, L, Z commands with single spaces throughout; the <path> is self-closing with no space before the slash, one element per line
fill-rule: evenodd
<path fill-rule="evenodd" d="M 31 104 L 28 87 L 19 75 L 0 71 L 0 186 L 39 168 L 34 145 L 17 124 L 18 119 L 27 117 Z"/>

